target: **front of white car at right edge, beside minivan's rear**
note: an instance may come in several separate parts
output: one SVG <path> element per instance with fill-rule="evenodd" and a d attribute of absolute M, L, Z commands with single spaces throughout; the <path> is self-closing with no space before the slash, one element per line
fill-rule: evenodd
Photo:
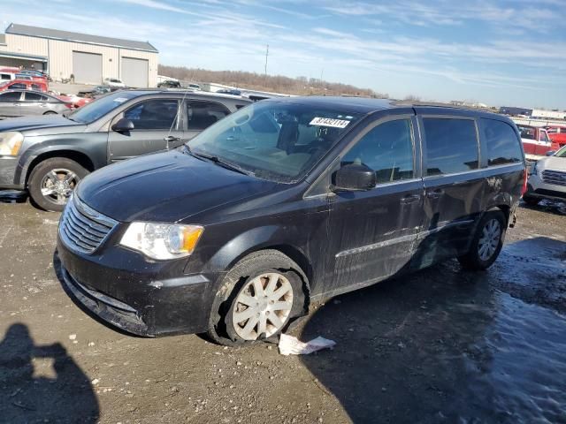
<path fill-rule="evenodd" d="M 523 200 L 536 205 L 543 199 L 566 201 L 566 146 L 532 165 Z"/>

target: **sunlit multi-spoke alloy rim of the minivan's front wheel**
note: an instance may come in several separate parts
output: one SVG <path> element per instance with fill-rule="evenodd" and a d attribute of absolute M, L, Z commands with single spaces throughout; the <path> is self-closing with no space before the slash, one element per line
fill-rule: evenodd
<path fill-rule="evenodd" d="M 277 272 L 251 279 L 238 294 L 232 310 L 233 329 L 244 340 L 271 337 L 287 323 L 293 307 L 293 286 Z"/>

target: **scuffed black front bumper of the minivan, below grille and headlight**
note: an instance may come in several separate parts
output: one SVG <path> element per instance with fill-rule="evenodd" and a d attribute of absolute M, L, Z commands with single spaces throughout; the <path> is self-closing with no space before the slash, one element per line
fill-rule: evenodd
<path fill-rule="evenodd" d="M 208 329 L 218 275 L 183 274 L 186 261 L 147 261 L 107 240 L 99 254 L 79 254 L 57 238 L 66 292 L 92 314 L 144 336 Z"/>

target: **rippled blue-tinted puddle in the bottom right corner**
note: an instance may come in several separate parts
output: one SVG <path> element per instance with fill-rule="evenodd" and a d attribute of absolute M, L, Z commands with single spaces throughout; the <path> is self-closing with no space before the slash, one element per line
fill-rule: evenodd
<path fill-rule="evenodd" d="M 566 318 L 507 293 L 495 299 L 493 324 L 475 346 L 485 357 L 465 360 L 458 420 L 566 421 Z"/>

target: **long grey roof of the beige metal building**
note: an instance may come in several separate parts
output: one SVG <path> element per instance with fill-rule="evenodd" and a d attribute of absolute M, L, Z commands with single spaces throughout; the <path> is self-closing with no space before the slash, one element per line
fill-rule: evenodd
<path fill-rule="evenodd" d="M 72 33 L 69 31 L 59 31 L 58 29 L 28 27 L 27 25 L 10 24 L 6 28 L 6 34 L 27 35 L 29 37 L 49 38 L 51 40 L 63 40 L 65 42 L 84 42 L 99 46 L 119 47 L 122 49 L 133 49 L 158 53 L 157 49 L 149 42 L 134 42 L 119 38 L 102 37 L 99 35 L 89 35 Z"/>

